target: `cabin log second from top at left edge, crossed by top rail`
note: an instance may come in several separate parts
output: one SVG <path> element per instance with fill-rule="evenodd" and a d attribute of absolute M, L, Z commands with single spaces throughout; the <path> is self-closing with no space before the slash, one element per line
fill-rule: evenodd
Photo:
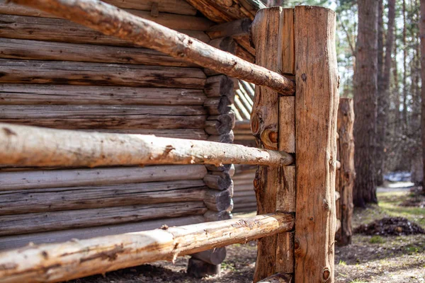
<path fill-rule="evenodd" d="M 134 16 L 138 18 L 137 16 Z M 35 18 L 0 14 L 1 37 L 21 40 L 45 40 L 57 42 L 88 43 L 91 45 L 113 45 L 140 47 L 117 37 L 103 35 L 96 30 L 72 23 L 62 18 Z M 179 30 L 203 42 L 210 37 L 200 30 Z M 148 46 L 145 46 L 149 48 Z"/>

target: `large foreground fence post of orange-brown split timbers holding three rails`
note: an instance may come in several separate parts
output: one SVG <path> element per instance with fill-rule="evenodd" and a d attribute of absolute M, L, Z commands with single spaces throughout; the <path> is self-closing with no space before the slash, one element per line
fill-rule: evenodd
<path fill-rule="evenodd" d="M 295 282 L 333 282 L 335 14 L 311 6 L 266 8 L 257 13 L 251 35 L 256 64 L 296 81 L 295 97 L 256 87 L 251 130 L 258 145 L 296 156 L 295 166 L 259 167 L 258 213 L 295 212 L 296 225 L 295 232 L 259 240 L 254 282 L 275 273 Z"/>

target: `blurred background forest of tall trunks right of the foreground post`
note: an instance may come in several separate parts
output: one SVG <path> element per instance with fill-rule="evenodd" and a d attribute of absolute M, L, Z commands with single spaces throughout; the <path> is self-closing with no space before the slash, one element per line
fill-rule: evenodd
<path fill-rule="evenodd" d="M 354 98 L 356 112 L 356 205 L 377 201 L 376 186 L 387 172 L 412 171 L 412 180 L 422 182 L 420 1 L 266 2 L 336 11 L 339 91 Z M 369 48 L 373 40 L 377 44 Z M 361 66 L 356 66 L 356 58 Z"/>

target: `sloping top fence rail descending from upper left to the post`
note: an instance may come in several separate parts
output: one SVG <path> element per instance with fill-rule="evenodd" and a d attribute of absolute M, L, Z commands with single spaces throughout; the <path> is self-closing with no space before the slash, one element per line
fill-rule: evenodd
<path fill-rule="evenodd" d="M 164 52 L 172 57 L 184 58 L 188 62 L 219 71 L 222 74 L 244 79 L 257 85 L 268 86 L 283 94 L 292 95 L 295 90 L 293 81 L 276 72 L 246 62 L 188 35 L 138 18 L 102 2 L 81 0 L 16 0 L 13 2 L 39 8 L 42 11 L 86 25 L 106 35 L 114 35 L 136 45 Z"/>

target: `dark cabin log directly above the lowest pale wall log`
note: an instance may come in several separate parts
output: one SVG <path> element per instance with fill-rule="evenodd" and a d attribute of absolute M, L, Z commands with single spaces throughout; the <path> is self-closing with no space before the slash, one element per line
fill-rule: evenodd
<path fill-rule="evenodd" d="M 0 236 L 199 215 L 206 211 L 207 208 L 203 202 L 173 202 L 77 209 L 72 210 L 72 213 L 62 211 L 11 214 L 0 216 Z"/>

